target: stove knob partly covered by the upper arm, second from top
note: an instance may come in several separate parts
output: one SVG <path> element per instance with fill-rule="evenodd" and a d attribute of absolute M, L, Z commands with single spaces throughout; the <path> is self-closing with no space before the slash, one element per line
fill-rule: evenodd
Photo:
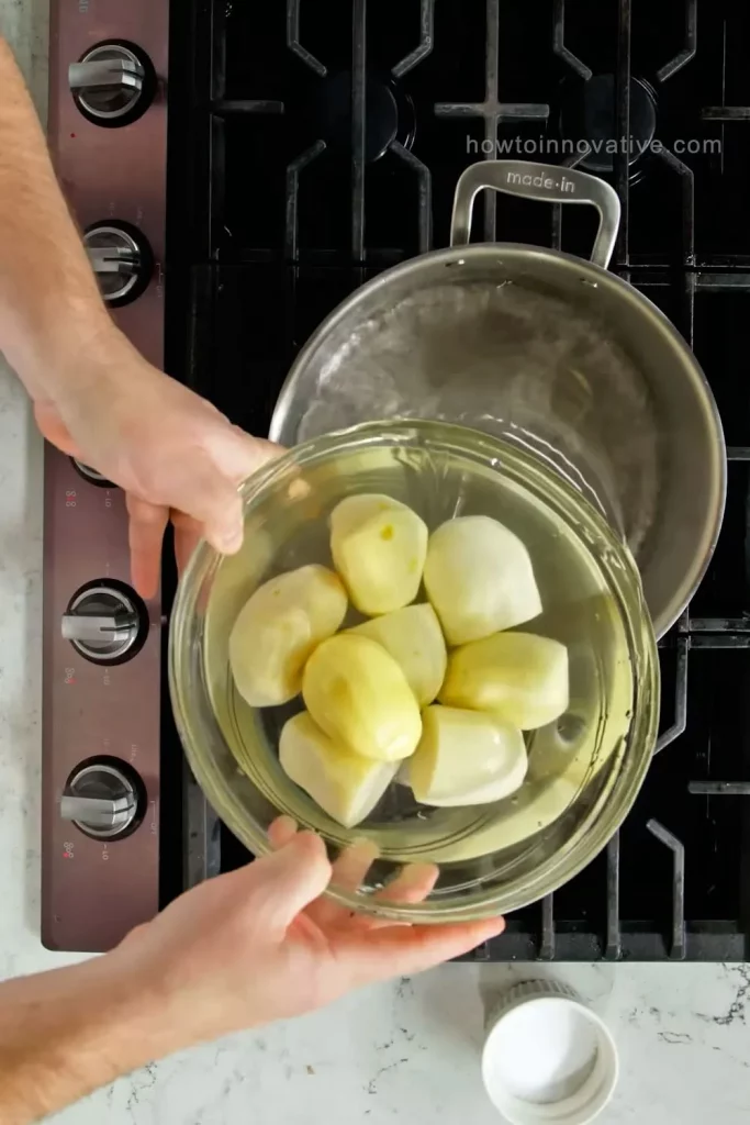
<path fill-rule="evenodd" d="M 119 219 L 94 223 L 83 242 L 108 305 L 128 305 L 141 296 L 153 277 L 154 255 L 136 226 Z"/>

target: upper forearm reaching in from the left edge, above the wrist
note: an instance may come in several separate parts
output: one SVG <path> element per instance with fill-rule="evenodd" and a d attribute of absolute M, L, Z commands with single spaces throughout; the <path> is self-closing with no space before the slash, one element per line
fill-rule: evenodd
<path fill-rule="evenodd" d="M 109 324 L 20 71 L 0 38 L 0 351 L 34 397 Z"/>

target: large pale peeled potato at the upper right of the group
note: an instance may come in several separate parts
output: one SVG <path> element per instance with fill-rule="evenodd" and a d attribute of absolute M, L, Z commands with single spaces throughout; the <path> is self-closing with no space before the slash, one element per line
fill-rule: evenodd
<path fill-rule="evenodd" d="M 486 515 L 449 520 L 433 532 L 424 583 L 449 645 L 489 637 L 542 612 L 528 551 Z"/>

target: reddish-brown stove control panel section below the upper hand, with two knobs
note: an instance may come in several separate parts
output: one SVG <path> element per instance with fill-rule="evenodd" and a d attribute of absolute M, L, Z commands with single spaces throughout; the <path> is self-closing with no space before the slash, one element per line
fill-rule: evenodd
<path fill-rule="evenodd" d="M 159 908 L 161 603 L 123 489 L 52 448 L 44 548 L 42 937 L 102 952 Z"/>

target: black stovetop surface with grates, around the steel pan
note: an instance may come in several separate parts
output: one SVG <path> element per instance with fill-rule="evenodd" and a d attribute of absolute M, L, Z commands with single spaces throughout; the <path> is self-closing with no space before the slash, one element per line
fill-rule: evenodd
<path fill-rule="evenodd" d="M 658 7 L 657 25 L 645 0 L 172 6 L 168 368 L 234 422 L 266 432 L 295 354 L 332 308 L 445 245 L 457 179 L 482 142 L 613 182 L 612 269 L 677 325 L 719 403 L 726 516 L 660 645 L 661 737 L 639 801 L 604 854 L 477 960 L 750 952 L 750 8 Z M 607 153 L 603 142 L 629 136 L 634 155 L 622 142 Z M 661 151 L 643 151 L 651 138 Z M 584 208 L 563 218 L 487 196 L 475 237 L 590 249 Z M 246 861 L 195 784 L 184 809 L 187 883 Z M 168 889 L 179 836 L 163 855 Z"/>

